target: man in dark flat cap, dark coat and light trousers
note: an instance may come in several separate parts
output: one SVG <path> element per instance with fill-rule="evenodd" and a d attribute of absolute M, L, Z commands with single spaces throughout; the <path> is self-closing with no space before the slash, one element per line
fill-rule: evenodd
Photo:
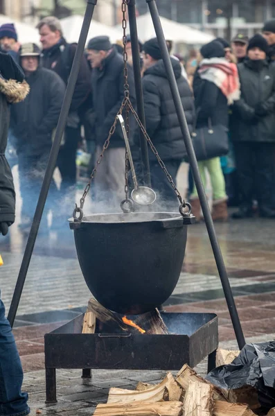
<path fill-rule="evenodd" d="M 103 150 L 103 144 L 116 119 L 124 99 L 123 57 L 112 47 L 109 37 L 97 36 L 89 41 L 88 60 L 92 67 L 91 89 L 94 100 L 96 158 Z M 134 75 L 128 65 L 130 100 L 135 104 Z M 130 138 L 134 125 L 131 120 Z M 95 177 L 96 199 L 110 203 L 121 202 L 125 186 L 125 141 L 120 125 L 117 125 L 110 140 L 109 148 L 98 166 Z M 118 205 L 119 206 L 119 205 Z M 110 207 L 112 208 L 112 207 Z"/>

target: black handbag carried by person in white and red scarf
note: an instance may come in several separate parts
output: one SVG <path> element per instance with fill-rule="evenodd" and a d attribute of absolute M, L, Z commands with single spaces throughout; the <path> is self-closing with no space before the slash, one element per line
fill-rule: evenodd
<path fill-rule="evenodd" d="M 193 147 L 197 161 L 225 156 L 229 153 L 228 129 L 222 124 L 197 128 L 192 133 Z"/>

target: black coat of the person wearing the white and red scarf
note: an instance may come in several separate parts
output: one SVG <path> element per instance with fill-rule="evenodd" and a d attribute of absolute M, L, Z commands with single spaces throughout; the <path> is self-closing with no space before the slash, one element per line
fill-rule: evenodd
<path fill-rule="evenodd" d="M 227 97 L 222 90 L 208 80 L 202 80 L 196 71 L 193 81 L 195 107 L 197 113 L 197 128 L 209 125 L 229 124 L 229 108 Z"/>

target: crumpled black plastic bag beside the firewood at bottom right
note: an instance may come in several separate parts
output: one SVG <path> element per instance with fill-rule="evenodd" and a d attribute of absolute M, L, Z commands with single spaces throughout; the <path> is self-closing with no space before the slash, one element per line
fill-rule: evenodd
<path fill-rule="evenodd" d="M 260 405 L 275 406 L 275 341 L 247 344 L 229 365 L 215 368 L 206 380 L 227 390 L 251 385 L 258 390 Z"/>

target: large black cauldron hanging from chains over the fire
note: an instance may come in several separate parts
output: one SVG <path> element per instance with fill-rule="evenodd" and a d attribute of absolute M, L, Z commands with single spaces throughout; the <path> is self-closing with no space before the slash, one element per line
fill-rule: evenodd
<path fill-rule="evenodd" d="M 181 272 L 186 223 L 179 214 L 166 212 L 70 220 L 80 267 L 96 300 L 125 314 L 145 313 L 163 304 Z"/>

